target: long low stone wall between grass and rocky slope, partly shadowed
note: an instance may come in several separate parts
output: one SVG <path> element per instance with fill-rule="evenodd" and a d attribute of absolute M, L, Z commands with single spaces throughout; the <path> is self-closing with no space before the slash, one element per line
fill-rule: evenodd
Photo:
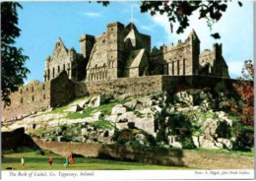
<path fill-rule="evenodd" d="M 115 158 L 144 163 L 170 166 L 185 166 L 198 169 L 253 169 L 254 158 L 246 156 L 217 154 L 206 151 L 180 151 L 163 148 L 98 145 L 65 142 L 43 142 L 32 138 L 40 148 L 68 156 L 70 151 L 84 156 Z"/>

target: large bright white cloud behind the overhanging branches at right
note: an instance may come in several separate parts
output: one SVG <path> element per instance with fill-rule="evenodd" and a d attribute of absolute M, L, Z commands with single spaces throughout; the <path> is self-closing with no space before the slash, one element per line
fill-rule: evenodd
<path fill-rule="evenodd" d="M 186 39 L 189 32 L 194 29 L 201 40 L 201 52 L 204 49 L 212 49 L 213 43 L 223 43 L 223 55 L 228 65 L 228 71 L 231 78 L 240 76 L 243 61 L 253 59 L 253 2 L 243 2 L 240 8 L 236 2 L 228 3 L 228 8 L 221 21 L 213 26 L 213 30 L 207 26 L 206 20 L 199 20 L 199 12 L 195 12 L 189 18 L 190 26 L 183 33 L 177 34 L 175 30 L 178 24 L 173 25 L 173 33 L 170 32 L 169 22 L 166 15 L 156 14 L 150 16 L 151 22 L 156 27 L 161 28 L 162 38 L 158 39 L 165 44 L 170 41 L 177 43 L 178 39 Z M 242 23 L 242 26 L 241 24 Z M 220 32 L 222 38 L 214 39 L 211 33 Z"/>

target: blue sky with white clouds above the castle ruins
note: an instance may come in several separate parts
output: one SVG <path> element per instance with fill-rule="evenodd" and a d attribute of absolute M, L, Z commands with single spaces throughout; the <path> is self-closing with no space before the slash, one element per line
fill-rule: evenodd
<path fill-rule="evenodd" d="M 141 13 L 140 4 L 134 2 L 110 2 L 103 7 L 96 2 L 21 2 L 23 9 L 18 10 L 21 36 L 17 46 L 24 49 L 30 57 L 26 67 L 31 71 L 25 84 L 31 80 L 43 81 L 44 60 L 51 56 L 58 37 L 69 49 L 74 47 L 80 52 L 79 37 L 82 34 L 99 35 L 111 22 L 124 25 L 133 21 L 137 29 L 152 37 L 152 48 L 163 43 L 177 44 L 184 40 L 189 32 L 196 30 L 201 40 L 201 52 L 213 48 L 213 43 L 223 43 L 223 55 L 231 78 L 240 76 L 243 61 L 253 60 L 253 1 L 244 1 L 239 7 L 236 1 L 229 2 L 221 21 L 214 25 L 212 32 L 220 32 L 222 38 L 216 40 L 206 21 L 198 20 L 198 13 L 190 18 L 190 27 L 182 34 L 170 32 L 169 23 L 164 15 L 151 16 Z"/>

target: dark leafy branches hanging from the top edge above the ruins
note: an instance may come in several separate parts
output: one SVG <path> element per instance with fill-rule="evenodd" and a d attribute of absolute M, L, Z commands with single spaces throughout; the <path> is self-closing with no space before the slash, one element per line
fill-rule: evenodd
<path fill-rule="evenodd" d="M 97 1 L 103 6 L 109 4 L 108 1 Z M 237 1 L 241 7 L 242 3 Z M 212 30 L 215 23 L 221 20 L 226 8 L 227 0 L 224 1 L 141 1 L 141 12 L 150 12 L 152 16 L 156 13 L 165 14 L 170 23 L 172 32 L 173 24 L 178 23 L 177 33 L 182 33 L 189 26 L 189 17 L 196 11 L 199 11 L 199 19 L 206 19 L 207 25 Z M 221 38 L 219 32 L 211 34 L 214 38 Z"/>

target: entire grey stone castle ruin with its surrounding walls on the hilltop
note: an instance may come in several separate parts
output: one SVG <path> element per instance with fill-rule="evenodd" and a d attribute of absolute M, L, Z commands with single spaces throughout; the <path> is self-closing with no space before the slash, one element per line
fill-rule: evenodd
<path fill-rule="evenodd" d="M 222 44 L 200 54 L 195 30 L 184 42 L 160 49 L 151 49 L 151 36 L 139 32 L 133 23 L 110 23 L 100 35 L 84 34 L 79 40 L 81 52 L 77 53 L 57 39 L 52 55 L 45 60 L 44 83 L 32 81 L 12 92 L 11 106 L 2 106 L 2 121 L 17 120 L 85 94 L 174 91 L 181 83 L 196 84 L 197 79 L 219 85 L 229 82 Z M 207 87 L 198 84 L 202 85 Z"/>

